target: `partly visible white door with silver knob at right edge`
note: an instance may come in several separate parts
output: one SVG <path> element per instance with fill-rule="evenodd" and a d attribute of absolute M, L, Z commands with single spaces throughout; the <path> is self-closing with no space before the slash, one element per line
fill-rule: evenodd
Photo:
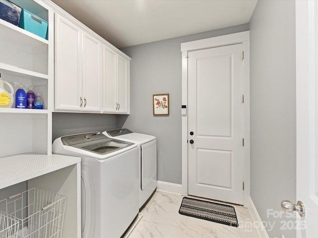
<path fill-rule="evenodd" d="M 297 217 L 295 223 L 282 222 L 285 222 L 287 229 L 297 230 L 297 238 L 318 237 L 317 39 L 318 2 L 296 0 L 296 199 L 304 203 L 305 216 L 301 217 L 294 212 L 293 215 Z M 291 202 L 296 204 L 296 201 Z"/>

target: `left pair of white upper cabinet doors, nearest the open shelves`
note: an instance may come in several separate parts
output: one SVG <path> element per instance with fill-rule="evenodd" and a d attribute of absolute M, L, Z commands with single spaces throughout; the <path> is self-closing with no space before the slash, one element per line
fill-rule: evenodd
<path fill-rule="evenodd" d="M 56 13 L 55 109 L 101 111 L 102 45 Z"/>

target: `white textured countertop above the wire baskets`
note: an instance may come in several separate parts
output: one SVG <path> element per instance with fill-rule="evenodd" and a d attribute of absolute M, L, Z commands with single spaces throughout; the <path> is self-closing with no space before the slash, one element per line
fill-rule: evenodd
<path fill-rule="evenodd" d="M 80 163 L 80 157 L 19 154 L 0 158 L 0 189 Z"/>

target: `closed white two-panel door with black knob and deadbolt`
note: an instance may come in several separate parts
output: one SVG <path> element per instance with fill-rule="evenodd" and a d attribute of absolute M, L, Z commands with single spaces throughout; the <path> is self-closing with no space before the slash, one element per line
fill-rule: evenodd
<path fill-rule="evenodd" d="M 242 44 L 188 53 L 188 193 L 243 204 Z"/>

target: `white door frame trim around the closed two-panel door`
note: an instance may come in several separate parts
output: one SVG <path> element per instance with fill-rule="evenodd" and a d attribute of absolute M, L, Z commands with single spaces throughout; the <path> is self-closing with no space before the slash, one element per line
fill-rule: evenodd
<path fill-rule="evenodd" d="M 182 99 L 181 105 L 186 106 L 186 114 L 181 119 L 181 157 L 182 157 L 182 195 L 188 195 L 188 59 L 189 51 L 202 50 L 233 44 L 243 44 L 243 181 L 244 181 L 244 207 L 248 207 L 250 197 L 250 134 L 249 134 L 249 31 L 212 37 L 203 40 L 181 43 L 182 59 Z M 243 184 L 242 184 L 243 185 Z"/>

